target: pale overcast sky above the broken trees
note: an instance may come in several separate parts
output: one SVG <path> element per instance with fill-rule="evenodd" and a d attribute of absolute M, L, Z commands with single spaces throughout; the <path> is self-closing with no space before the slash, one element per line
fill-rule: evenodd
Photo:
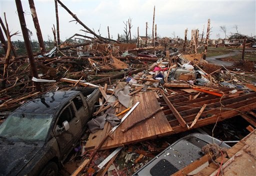
<path fill-rule="evenodd" d="M 153 7 L 155 5 L 155 24 L 157 36 L 184 38 L 184 30 L 188 28 L 188 38 L 191 29 L 206 32 L 207 19 L 210 19 L 210 38 L 217 38 L 220 34 L 224 38 L 219 26 L 225 26 L 227 35 L 236 32 L 234 25 L 241 34 L 255 36 L 256 33 L 256 0 L 62 0 L 76 16 L 97 34 L 107 37 L 107 26 L 110 36 L 117 39 L 117 33 L 124 34 L 124 23 L 131 19 L 131 35 L 145 36 L 145 23 L 148 23 L 147 33 L 152 35 Z M 56 27 L 54 0 L 34 0 L 37 17 L 43 39 L 53 40 L 52 27 Z M 29 9 L 28 0 L 22 0 L 27 28 L 32 31 L 32 39 L 37 40 Z M 12 40 L 23 40 L 18 20 L 15 0 L 0 0 L 0 17 L 6 18 L 12 33 L 19 31 L 20 36 L 13 36 Z M 72 16 L 58 5 L 60 39 L 65 40 L 75 33 L 85 35 L 80 24 L 72 21 Z M 99 30 L 99 32 L 98 32 Z M 87 36 L 91 36 L 86 34 Z"/>

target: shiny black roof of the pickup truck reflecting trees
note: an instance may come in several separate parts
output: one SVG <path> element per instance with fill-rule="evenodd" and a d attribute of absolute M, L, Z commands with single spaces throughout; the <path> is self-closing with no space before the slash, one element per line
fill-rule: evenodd
<path fill-rule="evenodd" d="M 51 91 L 30 100 L 17 108 L 14 112 L 55 114 L 61 110 L 70 99 L 77 96 L 79 91 Z"/>

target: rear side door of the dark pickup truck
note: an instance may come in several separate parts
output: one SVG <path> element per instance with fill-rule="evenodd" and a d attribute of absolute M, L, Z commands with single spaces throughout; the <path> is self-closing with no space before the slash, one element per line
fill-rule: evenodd
<path fill-rule="evenodd" d="M 82 127 L 85 126 L 86 122 L 89 120 L 89 108 L 86 100 L 84 99 L 83 95 L 77 95 L 73 100 L 76 115 L 80 117 Z"/>

